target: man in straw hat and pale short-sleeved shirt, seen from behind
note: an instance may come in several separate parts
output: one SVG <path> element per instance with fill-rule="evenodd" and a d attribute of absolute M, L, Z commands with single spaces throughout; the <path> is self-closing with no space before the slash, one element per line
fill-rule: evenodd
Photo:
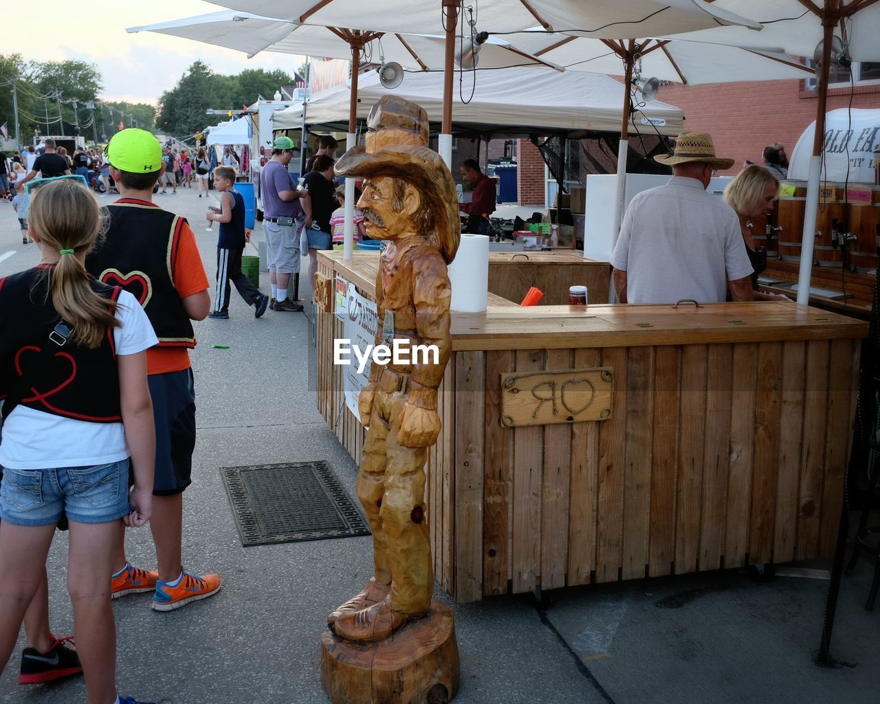
<path fill-rule="evenodd" d="M 611 256 L 620 303 L 675 303 L 692 298 L 716 303 L 752 300 L 752 265 L 737 214 L 706 188 L 733 159 L 715 157 L 712 137 L 682 132 L 664 186 L 637 194 L 620 225 Z"/>

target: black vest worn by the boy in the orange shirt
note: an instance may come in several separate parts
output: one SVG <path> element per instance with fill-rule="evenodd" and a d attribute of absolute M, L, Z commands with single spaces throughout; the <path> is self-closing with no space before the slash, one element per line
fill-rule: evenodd
<path fill-rule="evenodd" d="M 159 347 L 195 347 L 193 325 L 174 289 L 174 263 L 187 220 L 157 205 L 121 198 L 107 206 L 106 238 L 85 257 L 86 270 L 140 301 Z"/>

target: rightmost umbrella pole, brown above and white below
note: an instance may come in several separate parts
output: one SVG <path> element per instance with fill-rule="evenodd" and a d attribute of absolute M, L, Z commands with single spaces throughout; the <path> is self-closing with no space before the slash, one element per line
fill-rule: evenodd
<path fill-rule="evenodd" d="M 819 205 L 819 180 L 822 175 L 822 146 L 825 142 L 825 104 L 828 98 L 828 72 L 831 63 L 831 43 L 836 17 L 826 12 L 822 18 L 822 69 L 819 77 L 819 97 L 816 108 L 816 131 L 813 135 L 813 155 L 807 180 L 807 203 L 803 214 L 803 244 L 801 268 L 797 276 L 797 303 L 810 304 L 810 276 L 813 272 L 813 244 L 816 241 L 816 211 Z"/>

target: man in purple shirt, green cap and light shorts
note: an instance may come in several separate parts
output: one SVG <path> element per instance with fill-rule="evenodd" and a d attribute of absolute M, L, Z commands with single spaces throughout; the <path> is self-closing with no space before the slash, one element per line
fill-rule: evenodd
<path fill-rule="evenodd" d="M 305 227 L 312 227 L 312 201 L 309 192 L 297 188 L 287 170 L 293 158 L 293 140 L 277 137 L 270 158 L 260 172 L 263 196 L 263 231 L 268 250 L 269 282 L 272 297 L 269 308 L 280 312 L 298 312 L 303 306 L 287 297 L 291 274 L 299 273 L 299 228 L 297 218 L 305 214 Z"/>

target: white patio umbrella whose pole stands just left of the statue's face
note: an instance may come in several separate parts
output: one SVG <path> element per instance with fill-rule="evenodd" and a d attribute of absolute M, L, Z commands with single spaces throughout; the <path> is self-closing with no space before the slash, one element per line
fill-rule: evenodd
<path fill-rule="evenodd" d="M 448 42 L 442 36 L 361 32 L 336 26 L 304 25 L 287 19 L 265 17 L 238 10 L 211 12 L 155 25 L 129 27 L 128 32 L 171 34 L 235 49 L 245 52 L 248 56 L 260 51 L 269 51 L 327 58 L 350 58 L 352 70 L 346 144 L 348 149 L 355 144 L 357 81 L 363 51 L 369 48 L 375 59 L 398 62 L 401 66 L 415 70 L 443 68 L 448 54 Z M 489 42 L 482 48 L 480 65 L 485 68 L 529 65 L 555 68 L 546 60 L 525 55 L 500 40 Z M 343 246 L 345 259 L 351 258 L 354 249 L 354 213 L 355 181 L 347 179 Z"/>

